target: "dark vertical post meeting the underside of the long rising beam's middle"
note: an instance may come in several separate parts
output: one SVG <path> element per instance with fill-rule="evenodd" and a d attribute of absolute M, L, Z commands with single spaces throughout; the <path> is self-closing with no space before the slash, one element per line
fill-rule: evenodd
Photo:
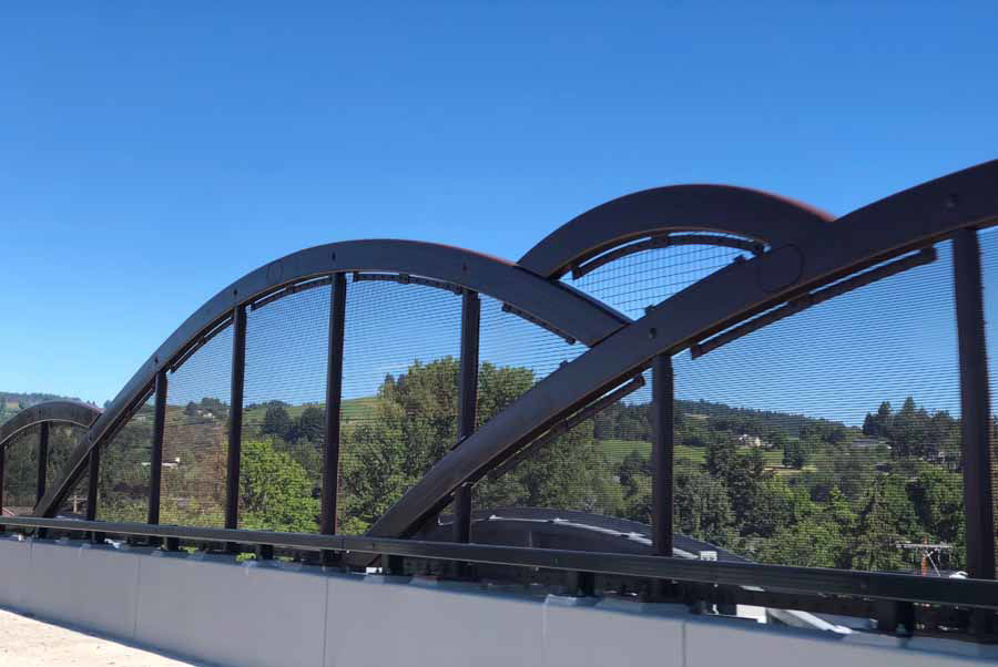
<path fill-rule="evenodd" d="M 674 381 L 672 357 L 652 361 L 652 404 L 655 417 L 652 447 L 652 546 L 660 556 L 672 555 L 672 456 L 674 444 Z"/>

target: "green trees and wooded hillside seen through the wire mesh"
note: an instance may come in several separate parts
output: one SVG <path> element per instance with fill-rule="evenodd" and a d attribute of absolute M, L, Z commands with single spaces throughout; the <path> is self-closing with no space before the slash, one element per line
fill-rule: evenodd
<path fill-rule="evenodd" d="M 483 363 L 478 423 L 530 389 L 525 368 Z M 458 362 L 415 362 L 377 396 L 344 402 L 339 530 L 367 530 L 457 440 Z M 247 406 L 241 525 L 315 531 L 322 404 Z M 898 542 L 946 542 L 964 565 L 959 422 L 908 399 L 883 403 L 862 429 L 827 420 L 676 401 L 674 521 L 681 533 L 753 560 L 898 569 Z M 221 525 L 228 406 L 167 407 L 164 523 Z M 144 521 L 152 415 L 143 407 L 102 453 L 99 517 Z M 618 403 L 537 445 L 507 474 L 475 488 L 481 507 L 578 510 L 650 521 L 650 406 Z M 458 445 L 459 447 L 459 445 Z M 8 465 L 9 492 L 30 497 L 33 455 Z M 63 454 L 58 454 L 63 455 Z M 84 481 L 85 483 L 85 481 Z"/>

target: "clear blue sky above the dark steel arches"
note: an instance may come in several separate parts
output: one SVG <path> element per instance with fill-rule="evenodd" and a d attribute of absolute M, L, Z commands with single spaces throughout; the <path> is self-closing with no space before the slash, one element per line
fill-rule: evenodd
<path fill-rule="evenodd" d="M 110 399 L 315 244 L 515 259 L 644 187 L 842 214 L 998 156 L 995 3 L 355 4 L 0 8 L 0 390 Z"/>

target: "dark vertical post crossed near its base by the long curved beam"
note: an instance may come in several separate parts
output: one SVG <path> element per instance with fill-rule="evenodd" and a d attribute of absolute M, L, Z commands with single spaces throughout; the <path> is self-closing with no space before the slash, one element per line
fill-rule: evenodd
<path fill-rule="evenodd" d="M 481 300 L 466 289 L 461 298 L 461 368 L 458 382 L 458 442 L 475 432 L 478 408 L 478 343 Z M 471 484 L 461 484 L 454 494 L 454 541 L 471 541 Z"/>

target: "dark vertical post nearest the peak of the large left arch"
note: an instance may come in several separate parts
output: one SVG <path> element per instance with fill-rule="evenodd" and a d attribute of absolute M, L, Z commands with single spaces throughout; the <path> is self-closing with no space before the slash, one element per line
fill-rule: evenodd
<path fill-rule="evenodd" d="M 329 298 L 329 355 L 326 360 L 326 447 L 323 450 L 323 511 L 319 531 L 336 533 L 339 494 L 339 410 L 343 400 L 343 340 L 346 334 L 346 274 L 334 274 Z"/>

